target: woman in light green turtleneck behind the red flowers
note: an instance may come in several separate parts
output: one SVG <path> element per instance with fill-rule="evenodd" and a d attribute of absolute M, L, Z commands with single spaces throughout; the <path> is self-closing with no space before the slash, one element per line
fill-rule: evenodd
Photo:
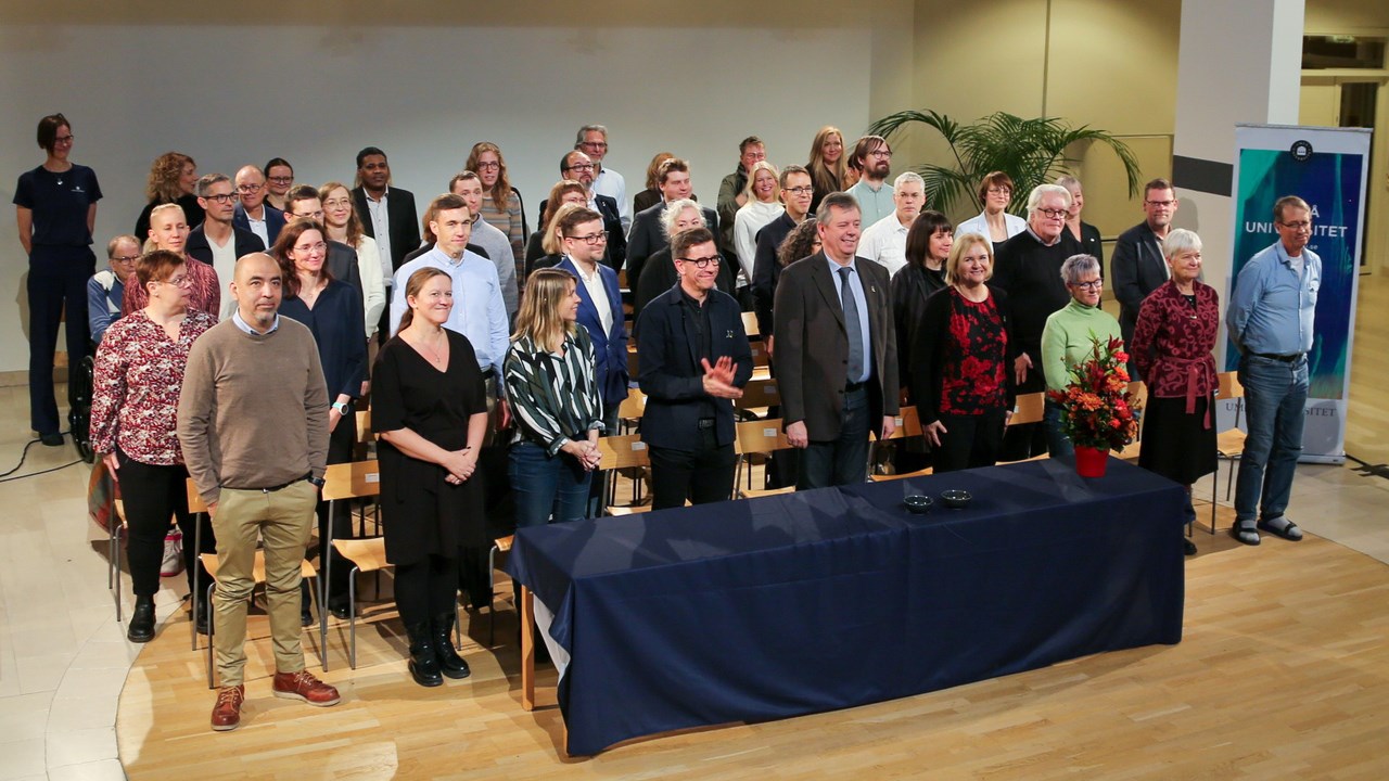
<path fill-rule="evenodd" d="M 1074 254 L 1061 264 L 1061 279 L 1071 292 L 1071 303 L 1051 313 L 1042 329 L 1042 372 L 1049 390 L 1065 390 L 1070 370 L 1090 356 L 1093 339 L 1108 342 L 1120 339 L 1120 321 L 1100 309 L 1100 293 L 1104 278 L 1100 277 L 1100 261 L 1090 254 Z M 1061 407 L 1046 402 L 1042 418 L 1046 428 L 1047 454 L 1072 456 L 1075 449 L 1061 429 Z"/>

